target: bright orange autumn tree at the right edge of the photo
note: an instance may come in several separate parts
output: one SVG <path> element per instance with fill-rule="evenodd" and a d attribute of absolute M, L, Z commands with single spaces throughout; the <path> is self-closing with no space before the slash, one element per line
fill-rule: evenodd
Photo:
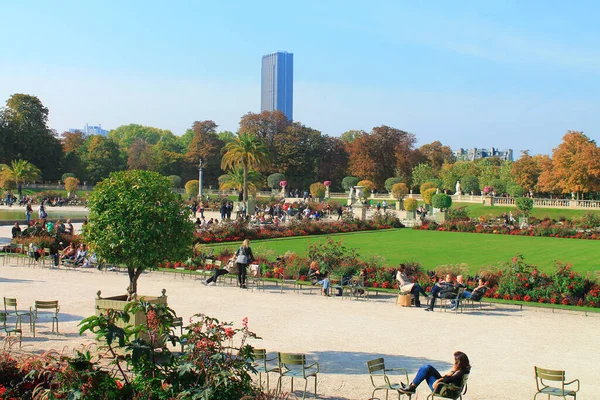
<path fill-rule="evenodd" d="M 563 141 L 552 151 L 556 188 L 562 193 L 583 193 L 600 190 L 600 150 L 596 142 L 582 132 L 568 131 Z"/>

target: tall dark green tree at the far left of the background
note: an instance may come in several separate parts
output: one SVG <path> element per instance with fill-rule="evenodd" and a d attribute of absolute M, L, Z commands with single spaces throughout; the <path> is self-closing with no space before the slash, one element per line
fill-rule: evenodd
<path fill-rule="evenodd" d="M 27 160 L 43 172 L 45 179 L 59 179 L 62 146 L 48 128 L 48 108 L 40 99 L 13 94 L 0 110 L 0 127 L 4 142 L 1 163 Z"/>

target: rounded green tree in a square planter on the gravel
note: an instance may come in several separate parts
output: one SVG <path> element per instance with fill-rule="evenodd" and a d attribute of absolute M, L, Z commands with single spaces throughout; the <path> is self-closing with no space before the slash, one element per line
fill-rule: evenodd
<path fill-rule="evenodd" d="M 142 272 L 191 253 L 193 224 L 168 178 L 151 171 L 123 171 L 96 185 L 90 195 L 84 240 L 107 263 L 125 264 L 128 300 Z"/>

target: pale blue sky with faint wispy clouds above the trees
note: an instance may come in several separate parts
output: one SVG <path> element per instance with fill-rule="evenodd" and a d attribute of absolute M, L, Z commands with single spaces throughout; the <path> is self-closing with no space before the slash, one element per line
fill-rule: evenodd
<path fill-rule="evenodd" d="M 568 129 L 600 132 L 598 15 L 595 1 L 6 1 L 0 101 L 37 95 L 59 131 L 235 131 L 260 112 L 261 56 L 285 50 L 294 117 L 325 134 L 386 124 L 419 144 L 550 153 Z"/>

